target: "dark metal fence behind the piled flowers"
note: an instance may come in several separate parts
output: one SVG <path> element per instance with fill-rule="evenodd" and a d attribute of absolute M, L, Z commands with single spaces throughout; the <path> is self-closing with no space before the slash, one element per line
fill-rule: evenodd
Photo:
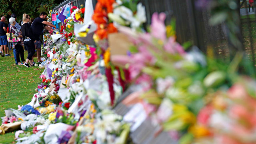
<path fill-rule="evenodd" d="M 195 6 L 196 0 L 140 0 L 146 7 L 147 24 L 151 23 L 151 16 L 154 12 L 164 12 L 166 14 L 166 24 L 173 18 L 176 20 L 176 37 L 181 44 L 191 42 L 198 46 L 202 52 L 213 55 L 214 58 L 230 60 L 233 54 L 239 48 L 230 44 L 227 34 L 226 24 L 212 26 L 209 23 L 211 14 L 209 10 L 198 9 Z M 69 1 L 65 0 L 57 10 Z M 94 6 L 97 0 L 93 0 Z M 255 64 L 254 42 L 256 42 L 256 13 L 248 12 L 248 0 L 236 0 L 240 4 L 238 13 L 240 13 L 240 24 L 238 34 L 240 41 L 243 43 L 244 52 L 250 56 Z M 80 7 L 85 0 L 73 0 L 74 6 Z M 255 31 L 255 32 L 254 32 Z M 241 48 L 240 48 L 241 49 Z"/>

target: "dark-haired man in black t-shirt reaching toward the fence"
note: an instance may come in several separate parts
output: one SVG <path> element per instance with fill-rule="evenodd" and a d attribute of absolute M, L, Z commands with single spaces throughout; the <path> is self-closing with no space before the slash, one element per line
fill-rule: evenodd
<path fill-rule="evenodd" d="M 31 28 L 34 34 L 34 37 L 36 41 L 34 42 L 35 48 L 36 48 L 36 55 L 37 55 L 37 62 L 41 63 L 41 41 L 40 41 L 40 35 L 43 33 L 44 28 L 48 31 L 53 31 L 52 28 L 49 28 L 48 26 L 56 28 L 53 24 L 46 21 L 47 14 L 46 12 L 41 12 L 39 17 L 35 18 L 34 21 L 31 24 Z"/>

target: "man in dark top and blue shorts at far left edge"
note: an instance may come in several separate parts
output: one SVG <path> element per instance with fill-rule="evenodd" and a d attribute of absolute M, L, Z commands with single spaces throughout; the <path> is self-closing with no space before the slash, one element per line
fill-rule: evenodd
<path fill-rule="evenodd" d="M 0 55 L 4 56 L 4 52 L 5 52 L 5 56 L 10 56 L 10 54 L 7 53 L 7 36 L 6 36 L 6 24 L 5 24 L 5 20 L 6 18 L 4 16 L 2 16 L 1 20 L 0 20 Z M 4 51 L 3 51 L 4 50 Z"/>

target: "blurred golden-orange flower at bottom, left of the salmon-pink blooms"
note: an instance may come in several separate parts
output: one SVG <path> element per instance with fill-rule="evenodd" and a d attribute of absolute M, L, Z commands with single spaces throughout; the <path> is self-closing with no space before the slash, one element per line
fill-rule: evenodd
<path fill-rule="evenodd" d="M 205 126 L 198 125 L 198 124 L 191 126 L 188 129 L 188 131 L 191 132 L 196 138 L 210 135 L 210 131 Z"/>

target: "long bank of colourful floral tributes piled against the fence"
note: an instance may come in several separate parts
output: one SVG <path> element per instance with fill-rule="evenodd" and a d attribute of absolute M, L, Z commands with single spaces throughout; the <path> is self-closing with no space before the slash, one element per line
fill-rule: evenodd
<path fill-rule="evenodd" d="M 55 18 L 56 16 L 56 18 Z M 64 17 L 64 18 L 63 18 Z M 17 144 L 125 144 L 149 119 L 154 138 L 180 144 L 256 142 L 256 81 L 176 42 L 175 22 L 136 0 L 98 0 L 50 11 L 60 31 L 44 34 L 44 72 L 30 103 L 6 110 L 0 133 Z M 122 98 L 125 114 L 114 110 Z"/>

